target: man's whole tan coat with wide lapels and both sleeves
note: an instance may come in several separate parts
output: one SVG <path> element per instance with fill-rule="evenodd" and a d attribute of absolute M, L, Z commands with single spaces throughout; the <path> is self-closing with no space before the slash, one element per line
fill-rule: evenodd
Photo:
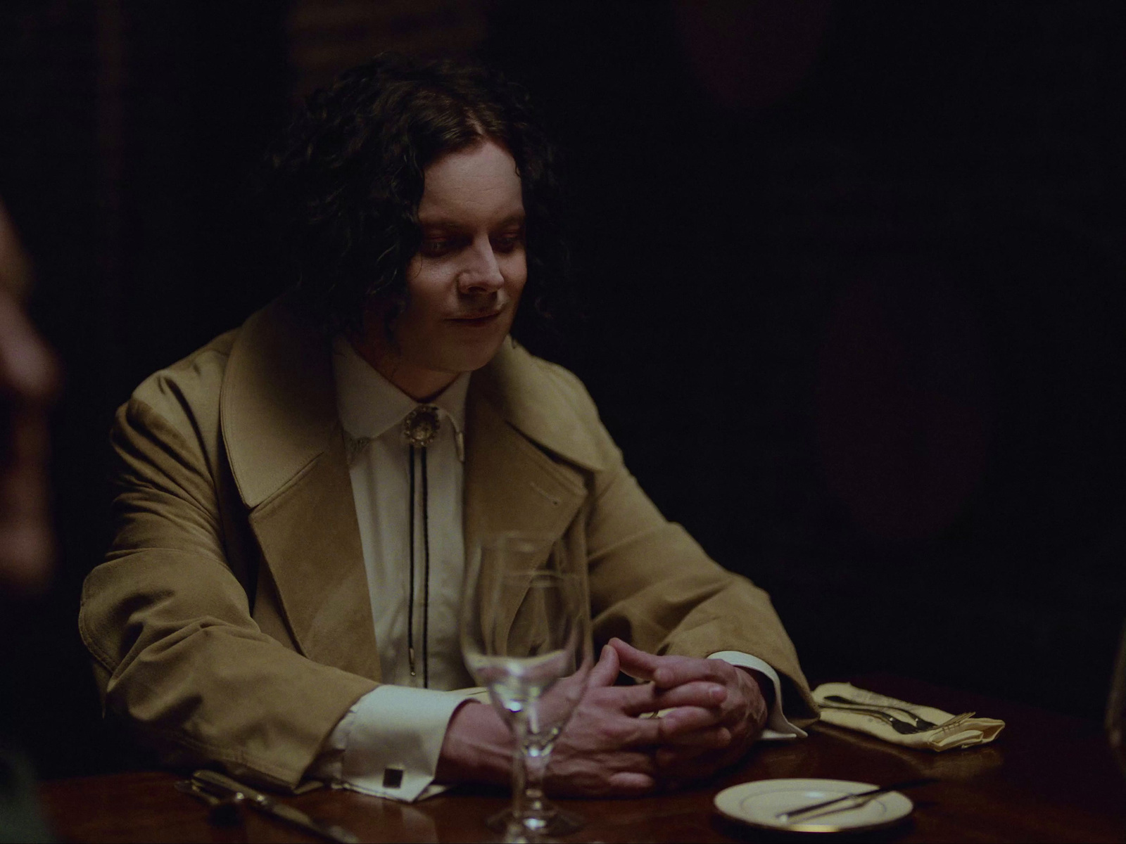
<path fill-rule="evenodd" d="M 667 522 L 580 381 L 506 342 L 471 379 L 465 547 L 562 537 L 596 643 L 752 653 L 808 686 L 770 600 Z M 107 710 L 166 762 L 294 787 L 379 681 L 329 344 L 284 300 L 148 378 L 113 429 L 115 539 L 79 627 Z"/>

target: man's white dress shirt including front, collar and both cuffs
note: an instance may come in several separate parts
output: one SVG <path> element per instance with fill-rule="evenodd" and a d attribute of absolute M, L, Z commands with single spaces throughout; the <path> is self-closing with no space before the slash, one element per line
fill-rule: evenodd
<path fill-rule="evenodd" d="M 466 688 L 473 680 L 462 661 L 457 631 L 465 571 L 462 433 L 470 375 L 458 376 L 430 402 L 438 407 L 440 425 L 437 437 L 427 447 L 426 523 L 429 524 L 430 577 L 429 607 L 426 607 L 421 460 L 414 457 L 415 495 L 412 502 L 411 450 L 402 437 L 403 420 L 419 405 L 342 339 L 333 343 L 332 367 L 340 423 L 349 446 L 349 475 L 383 684 L 360 698 L 340 720 L 310 774 L 369 794 L 418 800 L 443 790 L 434 784 L 434 776 L 454 711 L 470 698 L 481 699 L 480 690 Z M 413 674 L 408 641 L 412 568 Z M 423 688 L 421 665 L 423 628 L 428 634 L 427 688 Z M 765 738 L 805 735 L 783 715 L 781 688 L 772 667 L 740 652 L 721 652 L 712 657 L 754 668 L 774 681 L 775 706 Z"/>

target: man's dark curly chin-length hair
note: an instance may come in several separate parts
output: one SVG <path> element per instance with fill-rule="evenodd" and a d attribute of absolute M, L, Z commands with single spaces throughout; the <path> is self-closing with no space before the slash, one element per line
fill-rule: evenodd
<path fill-rule="evenodd" d="M 568 254 L 556 153 L 527 93 L 479 65 L 386 54 L 314 92 L 268 155 L 263 199 L 291 282 L 325 330 L 359 331 L 365 305 L 385 298 L 393 331 L 422 239 L 423 170 L 482 138 L 511 153 L 524 195 L 527 304 L 513 333 L 542 332 L 564 287 Z"/>

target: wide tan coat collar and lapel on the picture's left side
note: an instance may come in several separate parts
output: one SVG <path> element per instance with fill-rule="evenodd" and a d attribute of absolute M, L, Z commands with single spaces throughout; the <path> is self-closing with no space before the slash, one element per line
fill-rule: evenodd
<path fill-rule="evenodd" d="M 378 680 L 329 344 L 284 299 L 239 332 L 220 415 L 235 484 L 301 653 Z"/>

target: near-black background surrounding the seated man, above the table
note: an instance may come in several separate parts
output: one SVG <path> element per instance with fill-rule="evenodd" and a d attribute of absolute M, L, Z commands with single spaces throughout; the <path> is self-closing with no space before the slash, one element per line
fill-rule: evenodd
<path fill-rule="evenodd" d="M 1126 617 L 1124 9 L 6 0 L 0 197 L 66 370 L 59 573 L 0 607 L 7 722 L 47 776 L 120 764 L 75 629 L 113 410 L 277 291 L 247 179 L 297 97 L 388 47 L 533 91 L 587 317 L 553 353 L 813 679 L 1098 716 Z"/>

